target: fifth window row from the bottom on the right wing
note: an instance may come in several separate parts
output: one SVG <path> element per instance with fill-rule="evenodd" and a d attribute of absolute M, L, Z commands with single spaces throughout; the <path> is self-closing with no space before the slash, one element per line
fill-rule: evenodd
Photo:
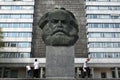
<path fill-rule="evenodd" d="M 87 19 L 120 19 L 120 15 L 88 14 Z"/>

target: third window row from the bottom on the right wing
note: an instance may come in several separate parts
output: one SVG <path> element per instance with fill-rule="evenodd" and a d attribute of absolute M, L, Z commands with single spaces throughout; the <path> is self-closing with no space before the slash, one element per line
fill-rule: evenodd
<path fill-rule="evenodd" d="M 88 33 L 88 38 L 120 38 L 120 33 L 115 32 L 103 32 L 103 33 Z"/>

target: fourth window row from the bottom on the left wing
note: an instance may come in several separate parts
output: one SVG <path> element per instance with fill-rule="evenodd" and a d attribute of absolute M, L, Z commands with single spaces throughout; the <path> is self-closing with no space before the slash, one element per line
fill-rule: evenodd
<path fill-rule="evenodd" d="M 0 28 L 32 28 L 32 23 L 0 23 Z"/>

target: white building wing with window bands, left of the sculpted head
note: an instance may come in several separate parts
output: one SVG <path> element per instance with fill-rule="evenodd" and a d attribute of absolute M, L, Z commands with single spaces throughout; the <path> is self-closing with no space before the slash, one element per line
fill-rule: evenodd
<path fill-rule="evenodd" d="M 30 58 L 33 13 L 34 0 L 0 0 L 0 28 L 5 42 L 0 49 L 1 59 Z M 3 68 L 5 72 L 1 77 L 17 76 L 16 68 L 5 67 L 0 68 L 0 74 Z"/>

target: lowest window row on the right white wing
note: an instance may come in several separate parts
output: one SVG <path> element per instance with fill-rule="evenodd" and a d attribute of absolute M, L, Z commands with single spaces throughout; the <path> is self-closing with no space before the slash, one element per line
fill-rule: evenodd
<path fill-rule="evenodd" d="M 120 58 L 120 52 L 90 52 L 91 58 Z"/>

